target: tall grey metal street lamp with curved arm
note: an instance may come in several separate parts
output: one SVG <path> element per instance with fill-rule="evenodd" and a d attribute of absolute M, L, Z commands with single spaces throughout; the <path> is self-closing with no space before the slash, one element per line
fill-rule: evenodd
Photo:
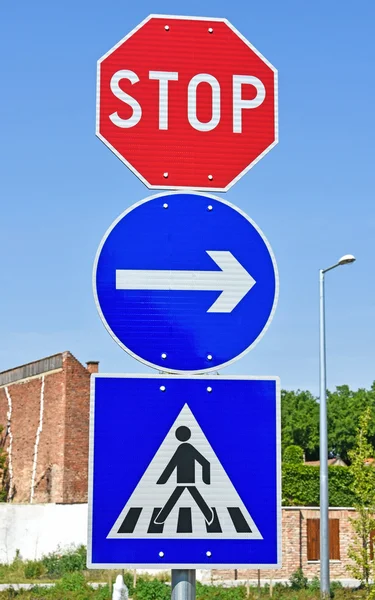
<path fill-rule="evenodd" d="M 327 439 L 327 398 L 326 398 L 326 342 L 324 275 L 328 271 L 355 261 L 352 254 L 345 254 L 340 260 L 319 271 L 320 281 L 320 594 L 329 598 L 329 521 L 328 521 L 328 439 Z"/>

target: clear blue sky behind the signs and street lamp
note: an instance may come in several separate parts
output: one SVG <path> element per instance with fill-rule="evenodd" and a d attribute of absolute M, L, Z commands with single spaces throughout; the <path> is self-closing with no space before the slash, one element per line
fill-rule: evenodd
<path fill-rule="evenodd" d="M 0 370 L 70 350 L 103 372 L 146 372 L 105 331 L 91 290 L 111 222 L 150 192 L 95 137 L 96 61 L 150 13 L 226 17 L 279 71 L 280 141 L 229 192 L 270 241 L 279 305 L 222 374 L 318 392 L 319 269 L 328 387 L 368 387 L 374 351 L 371 0 L 21 0 L 1 8 Z"/>

